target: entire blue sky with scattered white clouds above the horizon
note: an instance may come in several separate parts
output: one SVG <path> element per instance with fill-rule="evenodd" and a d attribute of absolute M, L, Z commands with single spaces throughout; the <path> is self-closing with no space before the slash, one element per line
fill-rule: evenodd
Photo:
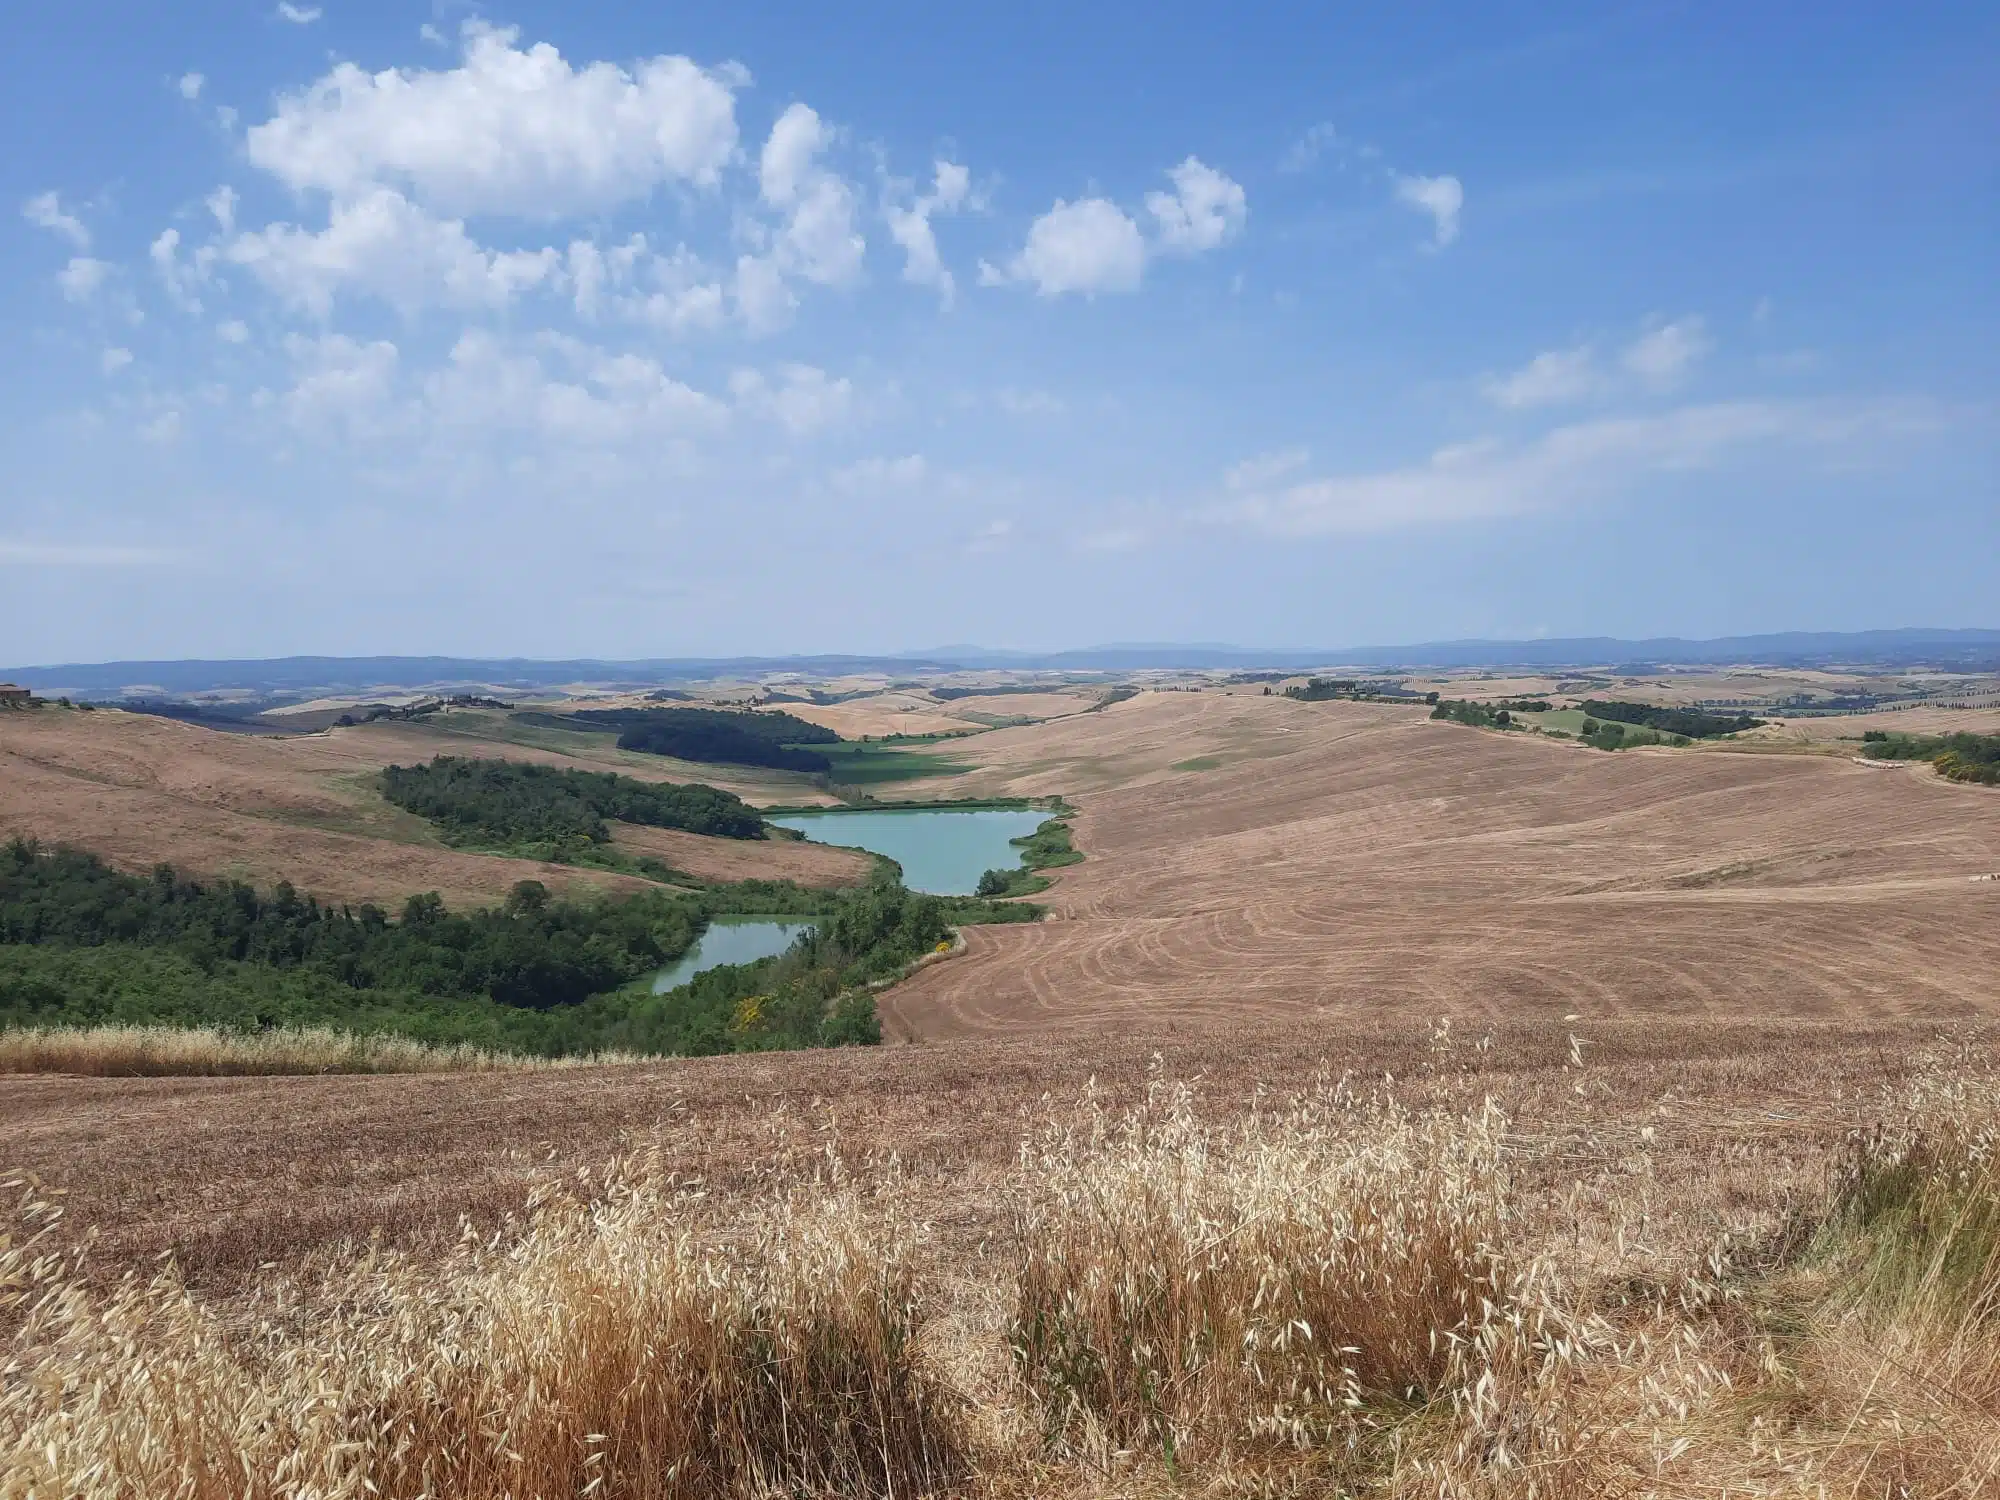
<path fill-rule="evenodd" d="M 2000 624 L 1978 4 L 38 8 L 0 658 Z"/>

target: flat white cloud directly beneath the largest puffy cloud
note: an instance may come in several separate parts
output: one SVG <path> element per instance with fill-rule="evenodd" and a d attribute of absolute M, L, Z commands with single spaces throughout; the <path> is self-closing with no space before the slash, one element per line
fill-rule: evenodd
<path fill-rule="evenodd" d="M 336 202 L 318 234 L 270 224 L 236 236 L 226 254 L 320 318 L 332 312 L 336 292 L 348 290 L 404 312 L 432 304 L 504 308 L 562 270 L 550 248 L 484 250 L 458 220 L 430 218 L 390 188 Z"/>

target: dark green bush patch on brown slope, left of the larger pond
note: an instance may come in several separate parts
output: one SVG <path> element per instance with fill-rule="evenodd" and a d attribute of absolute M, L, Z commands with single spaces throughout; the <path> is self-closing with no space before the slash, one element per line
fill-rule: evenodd
<path fill-rule="evenodd" d="M 734 792 L 518 760 L 438 756 L 428 766 L 390 766 L 382 794 L 454 842 L 606 844 L 606 818 L 712 838 L 764 836 L 756 808 Z"/>

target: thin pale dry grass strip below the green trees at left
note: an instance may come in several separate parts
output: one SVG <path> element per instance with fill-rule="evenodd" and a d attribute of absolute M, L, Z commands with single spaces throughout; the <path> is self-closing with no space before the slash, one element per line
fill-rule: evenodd
<path fill-rule="evenodd" d="M 520 1072 L 632 1062 L 624 1056 L 524 1058 L 408 1036 L 356 1036 L 326 1026 L 232 1032 L 202 1026 L 44 1026 L 0 1030 L 0 1072 L 88 1078 L 244 1078 L 320 1072 Z"/>

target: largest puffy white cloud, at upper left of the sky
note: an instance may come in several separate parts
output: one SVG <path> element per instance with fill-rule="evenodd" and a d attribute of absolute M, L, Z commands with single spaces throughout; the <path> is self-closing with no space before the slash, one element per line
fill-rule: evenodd
<path fill-rule="evenodd" d="M 248 132 L 250 160 L 336 198 L 408 188 L 446 214 L 560 218 L 714 184 L 736 150 L 736 70 L 658 56 L 572 68 L 518 32 L 464 28 L 458 68 L 338 64 Z"/>

